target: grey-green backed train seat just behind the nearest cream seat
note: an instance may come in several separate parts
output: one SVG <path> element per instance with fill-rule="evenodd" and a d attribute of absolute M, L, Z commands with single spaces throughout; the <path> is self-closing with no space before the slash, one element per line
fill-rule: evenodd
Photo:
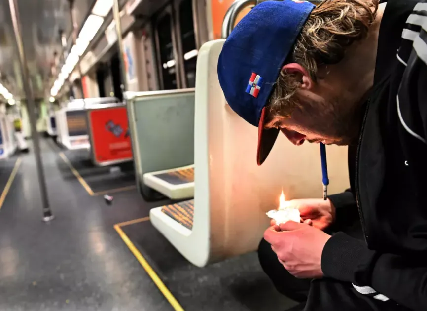
<path fill-rule="evenodd" d="M 127 92 L 142 196 L 194 195 L 194 89 Z M 156 133 L 155 135 L 153 133 Z"/>

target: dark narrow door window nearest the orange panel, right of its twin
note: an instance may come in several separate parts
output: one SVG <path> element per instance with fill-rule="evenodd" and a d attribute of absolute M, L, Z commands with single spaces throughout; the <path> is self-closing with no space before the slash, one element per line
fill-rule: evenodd
<path fill-rule="evenodd" d="M 183 0 L 179 4 L 179 29 L 187 87 L 194 87 L 196 85 L 197 49 L 191 0 Z"/>

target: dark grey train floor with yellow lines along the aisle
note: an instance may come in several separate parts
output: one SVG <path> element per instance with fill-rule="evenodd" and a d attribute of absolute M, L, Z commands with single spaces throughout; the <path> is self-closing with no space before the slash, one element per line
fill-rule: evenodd
<path fill-rule="evenodd" d="M 32 152 L 0 161 L 0 310 L 263 311 L 295 303 L 275 291 L 256 253 L 197 268 L 151 225 L 133 170 L 41 140 L 44 223 Z M 30 150 L 32 146 L 30 145 Z M 106 204 L 103 194 L 111 194 Z"/>

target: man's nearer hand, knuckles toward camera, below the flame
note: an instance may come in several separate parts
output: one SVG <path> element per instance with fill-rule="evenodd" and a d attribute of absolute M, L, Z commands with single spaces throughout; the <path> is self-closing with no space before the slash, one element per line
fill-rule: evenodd
<path fill-rule="evenodd" d="M 288 221 L 264 232 L 285 269 L 298 278 L 319 278 L 323 247 L 331 236 L 307 224 Z"/>

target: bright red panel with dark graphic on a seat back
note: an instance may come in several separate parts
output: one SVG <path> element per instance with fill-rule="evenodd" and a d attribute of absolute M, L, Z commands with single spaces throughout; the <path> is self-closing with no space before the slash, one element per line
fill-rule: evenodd
<path fill-rule="evenodd" d="M 98 163 L 132 159 L 132 146 L 126 107 L 96 109 L 90 112 L 92 148 Z"/>

